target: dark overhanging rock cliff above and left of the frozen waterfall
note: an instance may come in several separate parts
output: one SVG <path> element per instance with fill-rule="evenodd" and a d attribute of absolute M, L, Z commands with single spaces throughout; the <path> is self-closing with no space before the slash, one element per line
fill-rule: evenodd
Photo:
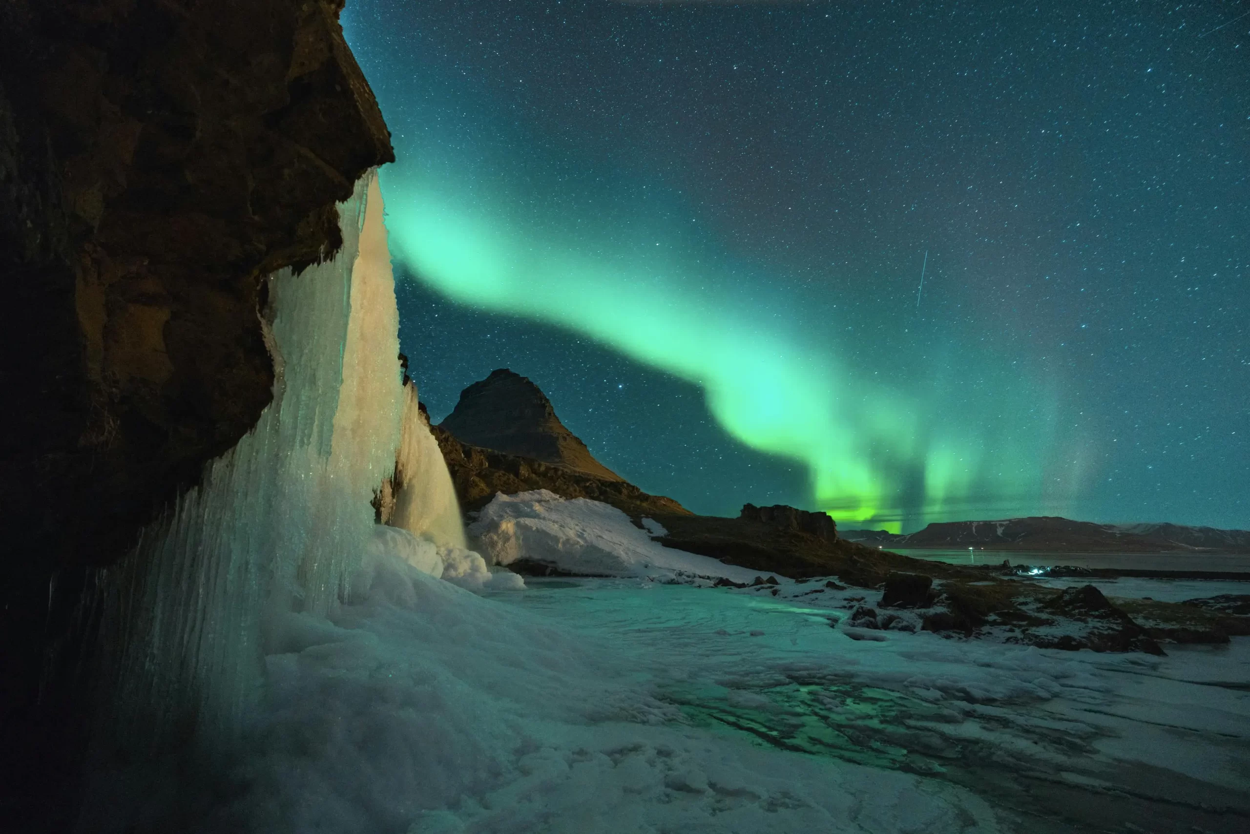
<path fill-rule="evenodd" d="M 330 255 L 334 204 L 392 159 L 341 5 L 0 4 L 0 816 L 19 828 L 70 813 L 39 803 L 75 746 L 72 650 L 49 668 L 45 649 L 85 571 L 255 424 L 264 275 Z"/>

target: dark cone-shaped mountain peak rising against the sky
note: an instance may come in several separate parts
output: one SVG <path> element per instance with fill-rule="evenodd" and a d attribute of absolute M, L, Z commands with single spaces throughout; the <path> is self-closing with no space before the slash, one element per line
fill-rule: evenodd
<path fill-rule="evenodd" d="M 560 423 L 551 400 L 538 385 L 506 368 L 461 391 L 455 410 L 439 425 L 472 446 L 621 480 Z"/>

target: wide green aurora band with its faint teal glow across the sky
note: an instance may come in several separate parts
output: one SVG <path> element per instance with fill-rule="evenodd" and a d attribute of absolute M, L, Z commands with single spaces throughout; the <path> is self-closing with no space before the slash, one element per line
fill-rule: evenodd
<path fill-rule="evenodd" d="M 879 300 L 882 274 L 884 295 L 915 298 L 922 245 L 908 274 L 882 255 L 870 280 L 796 280 L 609 140 L 528 131 L 470 76 L 420 71 L 419 88 L 371 80 L 398 158 L 381 171 L 391 251 L 438 293 L 701 386 L 731 436 L 804 464 L 809 508 L 844 526 L 1061 513 L 1085 485 L 1056 386 L 992 313 L 962 333 Z"/>

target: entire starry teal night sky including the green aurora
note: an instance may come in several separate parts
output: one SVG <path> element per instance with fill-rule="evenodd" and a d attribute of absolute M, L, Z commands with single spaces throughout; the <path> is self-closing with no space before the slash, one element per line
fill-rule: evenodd
<path fill-rule="evenodd" d="M 421 396 L 701 513 L 1248 528 L 1248 11 L 349 0 Z"/>

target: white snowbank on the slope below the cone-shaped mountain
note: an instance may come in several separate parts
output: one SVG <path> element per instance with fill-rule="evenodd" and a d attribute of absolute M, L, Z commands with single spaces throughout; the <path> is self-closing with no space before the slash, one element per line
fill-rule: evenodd
<path fill-rule="evenodd" d="M 478 551 L 496 565 L 525 559 L 586 576 L 672 576 L 681 573 L 751 581 L 760 575 L 758 570 L 665 548 L 651 540 L 655 529 L 664 528 L 655 521 L 651 524 L 655 526 L 639 529 L 610 504 L 585 498 L 566 499 L 539 489 L 495 495 L 469 525 L 469 535 Z"/>

